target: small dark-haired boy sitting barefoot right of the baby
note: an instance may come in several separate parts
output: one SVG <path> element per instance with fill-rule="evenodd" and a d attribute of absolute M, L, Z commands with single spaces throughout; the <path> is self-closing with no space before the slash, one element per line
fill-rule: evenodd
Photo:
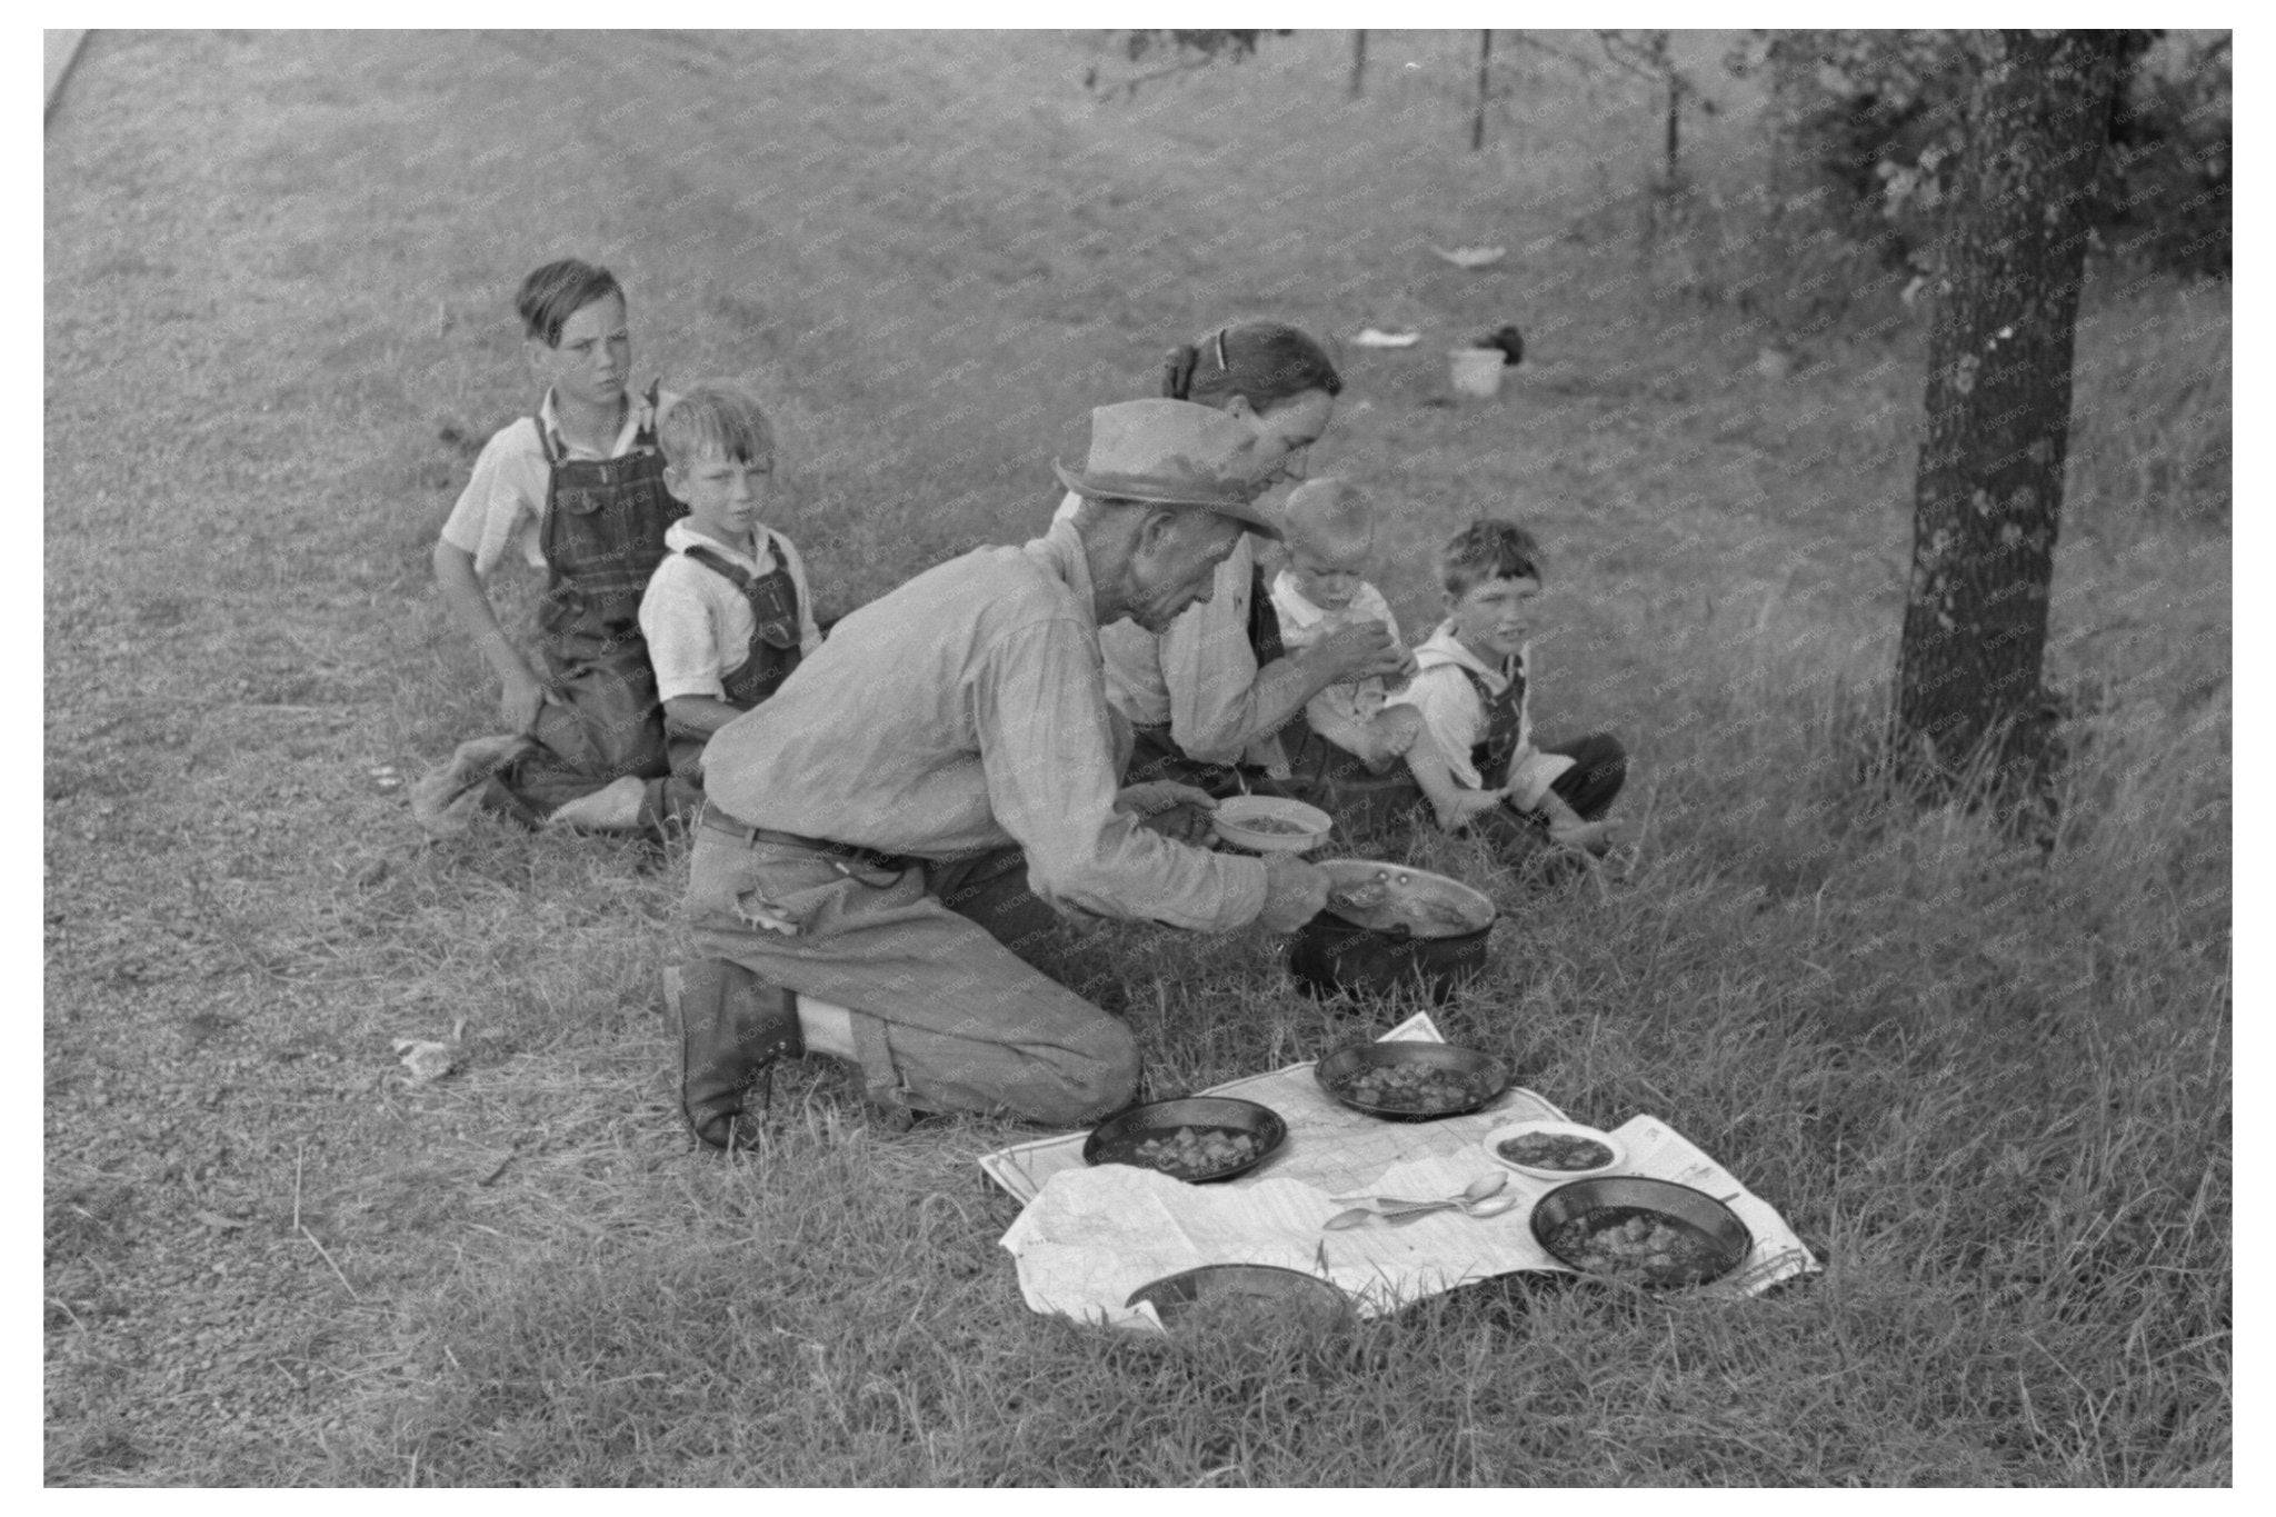
<path fill-rule="evenodd" d="M 1514 860 L 1541 844 L 1605 853 L 1605 812 L 1627 778 L 1627 753 L 1609 732 L 1534 746 L 1532 603 L 1541 594 L 1541 546 L 1514 521 L 1473 521 L 1438 555 L 1448 616 L 1416 648 L 1416 678 L 1393 705 L 1411 705 L 1436 739 L 1470 828 Z M 1438 807 L 1448 823 L 1448 807 Z M 1459 821 L 1454 823 L 1461 826 Z"/>

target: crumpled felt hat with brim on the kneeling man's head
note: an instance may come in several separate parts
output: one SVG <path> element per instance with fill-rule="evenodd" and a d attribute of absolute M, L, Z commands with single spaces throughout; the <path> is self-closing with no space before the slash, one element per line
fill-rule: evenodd
<path fill-rule="evenodd" d="M 1052 459 L 1058 482 L 1079 496 L 1190 505 L 1279 537 L 1279 521 L 1256 505 L 1272 466 L 1256 457 L 1256 432 L 1190 400 L 1124 400 L 1090 412 L 1090 457 L 1081 469 Z"/>

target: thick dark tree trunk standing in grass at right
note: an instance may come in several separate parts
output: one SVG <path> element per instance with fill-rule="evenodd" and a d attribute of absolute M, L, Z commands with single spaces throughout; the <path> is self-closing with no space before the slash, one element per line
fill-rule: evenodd
<path fill-rule="evenodd" d="M 2039 689 L 2071 332 L 2117 32 L 2005 32 L 1969 114 L 1928 341 L 1928 439 L 1896 666 L 1905 766 L 2044 782 Z"/>

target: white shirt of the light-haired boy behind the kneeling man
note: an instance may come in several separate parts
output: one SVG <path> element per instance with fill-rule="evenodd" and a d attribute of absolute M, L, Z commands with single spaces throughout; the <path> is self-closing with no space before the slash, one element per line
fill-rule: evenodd
<path fill-rule="evenodd" d="M 696 544 L 753 580 L 774 573 L 774 548 L 781 546 L 790 585 L 799 591 L 799 650 L 813 653 L 822 646 L 822 630 L 815 625 L 815 596 L 806 587 L 806 564 L 787 537 L 758 528 L 758 557 L 751 557 L 696 532 L 683 516 L 665 528 L 669 553 L 649 575 L 649 589 L 640 596 L 640 635 L 649 639 L 658 698 L 710 696 L 724 701 L 726 675 L 751 657 L 756 625 L 751 600 L 724 573 L 687 557 L 687 548 Z"/>

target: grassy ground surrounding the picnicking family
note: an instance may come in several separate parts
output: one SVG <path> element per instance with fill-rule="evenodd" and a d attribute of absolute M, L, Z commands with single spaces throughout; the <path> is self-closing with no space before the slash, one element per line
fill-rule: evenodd
<path fill-rule="evenodd" d="M 1609 80 L 1529 59 L 1473 157 L 1457 36 L 1377 34 L 1359 102 L 1338 34 L 1129 102 L 1081 89 L 1099 45 L 91 36 L 46 139 L 48 1478 L 2226 1481 L 2226 289 L 2089 289 L 2048 653 L 2083 757 L 2019 853 L 1853 785 L 1921 332 L 1880 300 L 1757 371 L 1778 334 L 1716 298 L 1741 93 L 1646 243 L 1655 125 Z M 1643 832 L 1548 901 L 1466 864 L 1509 923 L 1450 1033 L 1664 1117 L 1828 1271 L 1493 1283 L 1356 1362 L 1161 1349 L 1020 1303 L 972 1167 L 1017 1128 L 888 1137 L 817 1062 L 753 1162 L 692 1153 L 653 992 L 685 860 L 426 846 L 373 782 L 487 730 L 426 555 L 564 252 L 624 277 L 642 378 L 767 396 L 824 610 L 1038 530 L 1172 341 L 1420 330 L 1343 348 L 1316 469 L 1397 503 L 1416 632 L 1450 528 L 1536 525 L 1541 721 L 1630 741 Z M 1502 321 L 1525 368 L 1448 405 L 1443 348 Z M 1384 1026 L 1272 948 L 1081 964 L 1158 1092 Z M 460 1017 L 462 1073 L 389 1078 Z"/>

